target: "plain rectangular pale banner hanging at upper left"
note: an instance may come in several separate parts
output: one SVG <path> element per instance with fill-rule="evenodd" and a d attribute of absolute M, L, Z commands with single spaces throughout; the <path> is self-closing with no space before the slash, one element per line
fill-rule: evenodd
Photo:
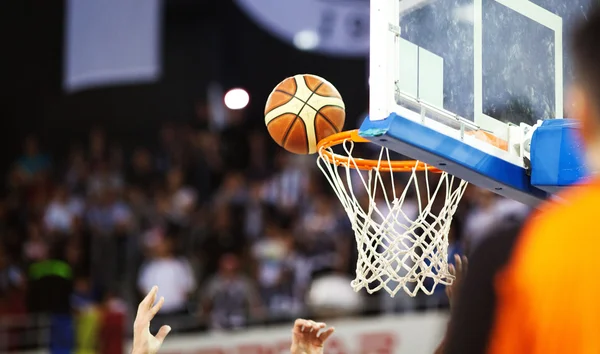
<path fill-rule="evenodd" d="M 156 80 L 161 11 L 161 0 L 67 0 L 65 90 Z"/>

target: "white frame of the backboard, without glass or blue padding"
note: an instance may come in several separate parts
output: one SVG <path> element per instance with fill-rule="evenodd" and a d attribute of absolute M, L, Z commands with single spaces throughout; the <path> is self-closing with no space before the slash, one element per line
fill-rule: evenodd
<path fill-rule="evenodd" d="M 405 41 L 400 36 L 401 28 L 399 26 L 402 14 L 407 11 L 413 11 L 432 2 L 432 0 L 371 0 L 371 19 L 370 19 L 370 108 L 369 119 L 378 121 L 386 119 L 392 113 L 402 114 L 405 118 L 434 129 L 447 136 L 454 137 L 469 145 L 484 151 L 490 155 L 499 157 L 512 164 L 525 168 L 523 161 L 523 136 L 525 130 L 531 130 L 532 127 L 521 124 L 521 126 L 512 126 L 500 122 L 483 113 L 483 97 L 481 97 L 482 85 L 482 36 L 481 36 L 481 6 L 483 0 L 474 0 L 474 19 L 478 22 L 477 33 L 475 34 L 476 47 L 475 66 L 475 122 L 460 117 L 452 112 L 444 110 L 439 105 L 424 101 L 422 98 L 416 98 L 414 95 L 401 89 L 402 78 L 400 77 L 400 61 L 402 58 L 401 42 Z M 557 33 L 556 41 L 556 65 L 562 68 L 562 21 L 560 17 L 550 13 L 539 6 L 530 3 L 529 5 L 517 3 L 529 3 L 527 0 L 494 0 L 514 9 L 519 13 L 525 13 Z M 562 70 L 557 70 L 556 74 L 556 109 L 560 109 L 562 117 L 563 90 L 562 90 Z M 478 79 L 477 79 L 478 78 Z M 414 102 L 415 106 L 422 107 L 420 112 L 407 109 L 398 102 Z M 436 111 L 438 119 L 432 119 L 427 112 Z M 447 119 L 448 124 L 441 123 L 439 117 Z M 495 136 L 509 142 L 509 150 L 501 150 L 495 146 L 482 142 L 464 134 L 468 130 L 484 130 L 493 133 Z"/>

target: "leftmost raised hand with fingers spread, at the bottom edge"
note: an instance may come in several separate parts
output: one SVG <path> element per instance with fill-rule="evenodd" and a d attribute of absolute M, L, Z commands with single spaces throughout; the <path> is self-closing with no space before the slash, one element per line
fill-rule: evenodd
<path fill-rule="evenodd" d="M 160 349 L 165 337 L 171 331 L 171 327 L 162 326 L 156 336 L 150 333 L 150 321 L 158 313 L 165 298 L 161 296 L 156 304 L 156 293 L 158 287 L 153 286 L 148 295 L 140 302 L 138 313 L 133 322 L 133 348 L 132 354 L 156 354 Z"/>

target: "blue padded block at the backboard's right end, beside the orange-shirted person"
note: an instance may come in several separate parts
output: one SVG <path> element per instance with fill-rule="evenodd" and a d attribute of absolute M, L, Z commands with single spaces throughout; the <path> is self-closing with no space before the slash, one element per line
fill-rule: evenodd
<path fill-rule="evenodd" d="M 579 134 L 573 119 L 546 120 L 531 138 L 531 183 L 549 193 L 587 176 Z"/>

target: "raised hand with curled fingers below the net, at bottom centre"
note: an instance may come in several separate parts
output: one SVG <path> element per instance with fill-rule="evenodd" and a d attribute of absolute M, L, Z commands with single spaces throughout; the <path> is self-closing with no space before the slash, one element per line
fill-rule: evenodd
<path fill-rule="evenodd" d="M 323 330 L 325 327 L 323 322 L 297 319 L 292 329 L 291 354 L 323 354 L 323 345 L 335 330 Z"/>

